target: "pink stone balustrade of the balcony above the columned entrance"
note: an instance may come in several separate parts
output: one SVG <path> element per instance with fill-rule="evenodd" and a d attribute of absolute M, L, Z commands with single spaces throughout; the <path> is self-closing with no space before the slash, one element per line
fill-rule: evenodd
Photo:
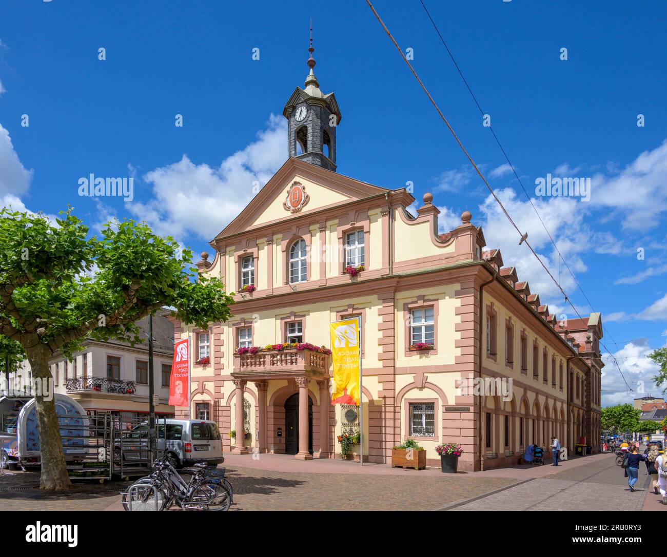
<path fill-rule="evenodd" d="M 329 354 L 314 350 L 271 350 L 234 354 L 234 376 L 291 376 L 295 373 L 329 375 Z"/>

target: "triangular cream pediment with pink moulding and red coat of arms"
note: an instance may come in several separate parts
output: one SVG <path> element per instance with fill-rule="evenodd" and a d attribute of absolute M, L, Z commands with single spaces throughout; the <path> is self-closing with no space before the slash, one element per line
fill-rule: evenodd
<path fill-rule="evenodd" d="M 301 204 L 298 211 L 292 211 L 293 207 L 286 203 L 288 192 L 294 183 L 299 183 L 303 194 L 307 196 L 307 201 Z M 360 182 L 290 157 L 215 239 L 389 191 L 392 190 Z"/>

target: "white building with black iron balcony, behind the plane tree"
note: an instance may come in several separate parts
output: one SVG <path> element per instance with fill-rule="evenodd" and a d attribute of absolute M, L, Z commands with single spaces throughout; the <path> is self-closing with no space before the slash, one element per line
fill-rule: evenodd
<path fill-rule="evenodd" d="M 71 396 L 89 414 L 111 412 L 121 422 L 136 423 L 148 414 L 148 318 L 137 321 L 144 342 L 100 342 L 86 338 L 85 348 L 71 361 L 61 354 L 49 360 L 55 392 Z M 173 322 L 165 313 L 153 315 L 153 392 L 159 396 L 157 415 L 171 416 L 169 376 L 173 359 Z"/>

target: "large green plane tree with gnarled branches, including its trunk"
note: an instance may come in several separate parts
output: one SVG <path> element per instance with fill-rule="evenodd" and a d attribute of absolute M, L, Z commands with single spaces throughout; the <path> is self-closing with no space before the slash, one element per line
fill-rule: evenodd
<path fill-rule="evenodd" d="M 141 342 L 135 321 L 168 306 L 206 328 L 225 321 L 233 298 L 218 278 L 193 281 L 191 251 L 145 223 L 106 225 L 101 238 L 71 209 L 43 215 L 0 211 L 0 334 L 23 346 L 33 378 L 49 378 L 49 358 L 71 357 L 84 337 Z M 70 486 L 54 400 L 36 398 L 42 489 Z M 49 398 L 48 396 L 46 398 Z"/>

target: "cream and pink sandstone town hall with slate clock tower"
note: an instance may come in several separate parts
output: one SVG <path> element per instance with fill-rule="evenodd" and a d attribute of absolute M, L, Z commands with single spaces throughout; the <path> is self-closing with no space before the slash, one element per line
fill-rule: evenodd
<path fill-rule="evenodd" d="M 498 249 L 484 251 L 470 212 L 439 233 L 430 193 L 413 215 L 405 188 L 337 173 L 340 109 L 319 89 L 312 51 L 308 65 L 283 109 L 289 158 L 197 263 L 236 292 L 235 304 L 229 322 L 177 324 L 203 362 L 193 364 L 191 407 L 177 415 L 213 416 L 237 454 L 335 457 L 338 435 L 358 431 L 360 416 L 331 406 L 329 358 L 238 350 L 329 346 L 329 322 L 360 316 L 364 458 L 389 462 L 407 437 L 431 465 L 436 445 L 460 442 L 464 470 L 516 464 L 552 434 L 571 452 L 582 437 L 599 450 L 600 314 L 556 322 Z M 480 379 L 497 390 L 462 388 Z"/>

